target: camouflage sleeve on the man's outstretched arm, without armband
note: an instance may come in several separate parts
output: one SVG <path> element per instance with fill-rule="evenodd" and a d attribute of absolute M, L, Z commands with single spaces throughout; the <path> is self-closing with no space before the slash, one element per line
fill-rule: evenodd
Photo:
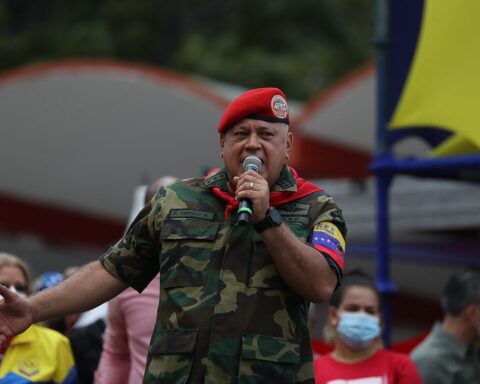
<path fill-rule="evenodd" d="M 165 190 L 142 209 L 127 232 L 100 257 L 103 266 L 116 278 L 138 292 L 148 285 L 159 271 L 159 218 Z"/>

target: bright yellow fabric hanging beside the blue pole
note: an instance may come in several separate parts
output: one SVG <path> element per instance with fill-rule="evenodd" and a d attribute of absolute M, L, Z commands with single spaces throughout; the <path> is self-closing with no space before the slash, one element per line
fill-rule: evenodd
<path fill-rule="evenodd" d="M 480 0 L 425 0 L 414 60 L 389 127 L 454 132 L 434 156 L 480 151 Z"/>

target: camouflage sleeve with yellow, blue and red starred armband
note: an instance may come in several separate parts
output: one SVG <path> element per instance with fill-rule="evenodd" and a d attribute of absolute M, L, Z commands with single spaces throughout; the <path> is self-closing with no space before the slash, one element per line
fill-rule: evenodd
<path fill-rule="evenodd" d="M 335 271 L 338 286 L 343 278 L 347 226 L 342 210 L 332 197 L 323 195 L 319 200 L 323 209 L 314 220 L 310 232 L 310 243 L 322 253 L 330 268 Z"/>

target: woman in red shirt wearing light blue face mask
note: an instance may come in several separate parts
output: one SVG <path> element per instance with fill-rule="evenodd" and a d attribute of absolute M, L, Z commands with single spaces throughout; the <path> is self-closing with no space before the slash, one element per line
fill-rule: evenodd
<path fill-rule="evenodd" d="M 316 384 L 421 384 L 407 355 L 383 348 L 380 294 L 370 276 L 346 274 L 329 304 L 327 332 L 334 350 L 315 361 Z"/>

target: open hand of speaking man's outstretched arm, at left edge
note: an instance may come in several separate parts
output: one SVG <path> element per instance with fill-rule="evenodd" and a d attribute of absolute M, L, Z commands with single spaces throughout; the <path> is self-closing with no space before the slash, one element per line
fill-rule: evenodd
<path fill-rule="evenodd" d="M 25 331 L 33 322 L 28 299 L 0 284 L 0 343 Z"/>

